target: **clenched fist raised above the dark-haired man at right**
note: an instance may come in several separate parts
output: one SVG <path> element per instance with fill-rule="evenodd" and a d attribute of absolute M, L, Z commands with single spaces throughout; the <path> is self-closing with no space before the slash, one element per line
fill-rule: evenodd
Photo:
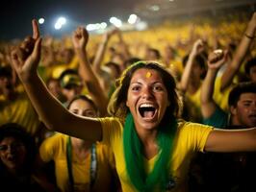
<path fill-rule="evenodd" d="M 227 51 L 217 49 L 209 55 L 207 64 L 210 69 L 218 69 L 226 62 L 226 60 Z"/>

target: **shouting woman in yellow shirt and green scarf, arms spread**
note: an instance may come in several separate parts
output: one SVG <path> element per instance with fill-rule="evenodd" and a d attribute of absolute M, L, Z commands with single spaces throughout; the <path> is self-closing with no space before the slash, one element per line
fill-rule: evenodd
<path fill-rule="evenodd" d="M 140 61 L 123 72 L 109 104 L 113 117 L 72 114 L 38 77 L 36 20 L 33 29 L 29 53 L 16 47 L 12 63 L 34 107 L 48 129 L 108 145 L 123 191 L 188 191 L 188 167 L 196 152 L 256 151 L 256 128 L 225 131 L 178 123 L 175 80 L 157 62 Z"/>

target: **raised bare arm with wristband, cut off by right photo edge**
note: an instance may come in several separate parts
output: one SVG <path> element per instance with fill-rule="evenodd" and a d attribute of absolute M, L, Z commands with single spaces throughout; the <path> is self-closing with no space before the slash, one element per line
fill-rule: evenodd
<path fill-rule="evenodd" d="M 225 69 L 222 77 L 221 77 L 221 87 L 220 90 L 223 91 L 227 88 L 230 84 L 232 84 L 234 76 L 239 71 L 243 60 L 246 56 L 246 53 L 249 50 L 251 43 L 255 37 L 256 31 L 256 12 L 253 13 L 245 32 L 242 36 L 242 39 L 239 43 L 238 48 L 236 49 L 235 55 L 231 62 L 228 64 L 227 68 Z"/>

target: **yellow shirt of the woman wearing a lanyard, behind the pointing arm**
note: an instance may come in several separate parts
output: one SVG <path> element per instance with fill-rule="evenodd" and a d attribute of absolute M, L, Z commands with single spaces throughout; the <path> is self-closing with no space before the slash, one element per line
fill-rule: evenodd
<path fill-rule="evenodd" d="M 66 142 L 68 135 L 56 133 L 42 142 L 39 155 L 44 162 L 54 160 L 57 185 L 62 192 L 68 191 L 69 179 L 66 162 Z M 111 191 L 115 159 L 110 149 L 96 144 L 97 173 L 93 191 Z M 90 155 L 79 159 L 72 150 L 72 174 L 75 191 L 90 191 Z"/>

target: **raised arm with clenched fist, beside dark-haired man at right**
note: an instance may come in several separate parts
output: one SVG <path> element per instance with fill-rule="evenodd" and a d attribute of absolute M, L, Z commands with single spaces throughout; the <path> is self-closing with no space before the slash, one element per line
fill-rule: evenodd
<path fill-rule="evenodd" d="M 227 53 L 222 50 L 212 52 L 207 60 L 208 70 L 201 87 L 201 112 L 203 118 L 209 118 L 217 109 L 217 104 L 213 99 L 215 80 L 218 69 L 225 63 Z"/>

